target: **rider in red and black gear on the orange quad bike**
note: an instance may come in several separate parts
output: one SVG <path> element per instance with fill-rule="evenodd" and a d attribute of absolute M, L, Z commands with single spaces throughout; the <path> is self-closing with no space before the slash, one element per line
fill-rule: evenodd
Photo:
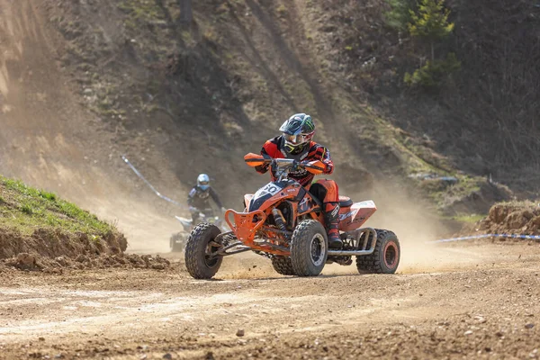
<path fill-rule="evenodd" d="M 266 141 L 261 155 L 272 158 L 290 158 L 301 161 L 320 160 L 326 168 L 323 174 L 332 174 L 334 163 L 330 158 L 328 148 L 312 141 L 315 134 L 315 124 L 311 116 L 306 113 L 295 113 L 279 128 L 281 136 Z M 258 173 L 265 174 L 270 166 L 268 164 L 257 166 Z M 275 169 L 271 169 L 272 181 L 275 181 Z M 315 175 L 305 168 L 297 167 L 289 174 L 293 180 L 302 184 L 314 197 L 323 204 L 324 220 L 329 236 L 329 247 L 341 248 L 343 242 L 339 237 L 339 195 L 338 184 L 333 180 L 319 180 L 311 184 Z"/>

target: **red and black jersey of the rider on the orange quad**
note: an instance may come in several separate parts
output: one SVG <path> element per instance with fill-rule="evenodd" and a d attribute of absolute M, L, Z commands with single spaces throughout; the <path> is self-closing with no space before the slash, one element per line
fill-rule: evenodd
<path fill-rule="evenodd" d="M 332 172 L 334 171 L 334 163 L 332 162 L 328 148 L 323 147 L 315 141 L 311 141 L 309 146 L 305 147 L 300 153 L 293 155 L 287 153 L 284 150 L 284 142 L 285 141 L 283 136 L 269 139 L 268 141 L 266 141 L 265 145 L 263 145 L 261 155 L 269 156 L 272 158 L 293 158 L 298 161 L 320 160 L 327 166 L 325 171 L 323 172 L 324 174 L 332 174 Z M 268 171 L 268 168 L 269 166 L 266 164 L 263 166 L 257 166 L 256 170 L 261 174 L 265 174 Z M 302 184 L 302 186 L 310 185 L 311 181 L 313 181 L 314 176 L 315 175 L 311 174 L 303 168 L 289 174 L 289 177 Z M 275 180 L 274 172 L 272 172 L 272 180 Z"/>

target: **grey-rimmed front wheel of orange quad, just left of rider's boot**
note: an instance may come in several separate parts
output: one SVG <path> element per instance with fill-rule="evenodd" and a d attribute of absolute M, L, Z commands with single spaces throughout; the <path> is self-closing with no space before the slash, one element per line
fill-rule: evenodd
<path fill-rule="evenodd" d="M 303 220 L 291 239 L 291 263 L 294 275 L 320 275 L 329 256 L 329 239 L 319 221 Z"/>

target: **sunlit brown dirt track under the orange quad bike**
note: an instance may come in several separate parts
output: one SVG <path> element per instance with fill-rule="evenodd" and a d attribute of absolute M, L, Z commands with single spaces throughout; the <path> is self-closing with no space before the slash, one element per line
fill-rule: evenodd
<path fill-rule="evenodd" d="M 329 266 L 306 279 L 249 256 L 229 261 L 217 281 L 194 281 L 178 263 L 165 272 L 8 272 L 0 358 L 540 357 L 538 244 L 434 254 L 446 254 L 446 270 Z"/>

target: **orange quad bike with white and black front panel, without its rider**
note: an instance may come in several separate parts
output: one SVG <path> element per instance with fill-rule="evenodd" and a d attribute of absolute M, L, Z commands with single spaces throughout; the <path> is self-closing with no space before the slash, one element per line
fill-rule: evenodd
<path fill-rule="evenodd" d="M 210 279 L 220 269 L 223 257 L 254 251 L 269 257 L 281 275 L 317 276 L 326 264 L 348 266 L 356 257 L 360 273 L 393 274 L 400 264 L 400 242 L 389 230 L 361 228 L 377 210 L 373 201 L 353 203 L 339 197 L 339 230 L 343 247 L 330 249 L 324 227 L 322 204 L 309 190 L 289 178 L 299 168 L 321 174 L 325 165 L 298 162 L 257 154 L 244 157 L 247 165 L 269 164 L 275 181 L 257 193 L 246 194 L 243 212 L 228 210 L 229 232 L 209 223 L 199 224 L 185 246 L 185 266 L 196 279 Z"/>

